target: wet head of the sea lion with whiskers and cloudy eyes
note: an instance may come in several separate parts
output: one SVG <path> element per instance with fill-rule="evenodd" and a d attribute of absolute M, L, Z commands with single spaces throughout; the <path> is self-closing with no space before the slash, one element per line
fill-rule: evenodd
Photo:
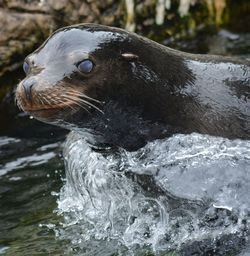
<path fill-rule="evenodd" d="M 26 73 L 17 86 L 18 106 L 35 118 L 55 124 L 74 124 L 124 90 L 137 58 L 128 32 L 80 24 L 54 32 L 27 56 Z"/>

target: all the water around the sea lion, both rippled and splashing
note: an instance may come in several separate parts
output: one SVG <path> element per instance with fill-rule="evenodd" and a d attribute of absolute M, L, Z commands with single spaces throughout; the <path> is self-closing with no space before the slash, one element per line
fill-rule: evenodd
<path fill-rule="evenodd" d="M 248 38 L 174 46 L 249 57 Z M 0 254 L 250 253 L 249 141 L 175 135 L 100 153 L 74 133 L 64 146 L 64 131 L 11 105 L 0 115 Z"/>

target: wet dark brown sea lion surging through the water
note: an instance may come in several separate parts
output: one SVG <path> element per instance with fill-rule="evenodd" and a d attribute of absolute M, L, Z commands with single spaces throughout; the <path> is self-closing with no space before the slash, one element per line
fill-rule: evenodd
<path fill-rule="evenodd" d="M 79 24 L 24 61 L 18 106 L 44 122 L 135 150 L 173 133 L 250 138 L 250 62 L 180 52 L 128 31 Z"/>

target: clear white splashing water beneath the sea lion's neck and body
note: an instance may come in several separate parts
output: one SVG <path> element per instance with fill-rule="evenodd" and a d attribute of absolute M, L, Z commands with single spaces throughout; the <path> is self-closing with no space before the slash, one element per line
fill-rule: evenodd
<path fill-rule="evenodd" d="M 227 252 L 247 239 L 249 141 L 175 135 L 136 152 L 100 153 L 71 132 L 64 157 L 58 237 L 81 255 L 185 254 L 204 241 Z"/>

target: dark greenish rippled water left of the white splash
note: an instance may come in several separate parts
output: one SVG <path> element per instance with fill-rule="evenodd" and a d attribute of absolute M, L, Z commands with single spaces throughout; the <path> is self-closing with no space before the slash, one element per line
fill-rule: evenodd
<path fill-rule="evenodd" d="M 0 154 L 5 152 L 0 160 L 0 254 L 61 252 L 59 243 L 54 243 L 54 232 L 39 227 L 43 222 L 59 221 L 53 214 L 55 198 L 50 195 L 62 186 L 59 143 L 44 146 L 34 139 L 31 143 L 6 136 L 0 141 Z M 22 151 L 20 143 L 25 144 Z"/>

